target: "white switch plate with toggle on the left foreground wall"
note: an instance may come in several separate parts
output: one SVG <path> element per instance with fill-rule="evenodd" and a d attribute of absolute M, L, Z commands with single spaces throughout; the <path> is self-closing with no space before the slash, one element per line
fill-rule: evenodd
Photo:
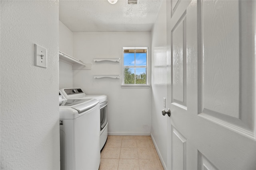
<path fill-rule="evenodd" d="M 35 66 L 47 68 L 47 49 L 35 44 Z"/>

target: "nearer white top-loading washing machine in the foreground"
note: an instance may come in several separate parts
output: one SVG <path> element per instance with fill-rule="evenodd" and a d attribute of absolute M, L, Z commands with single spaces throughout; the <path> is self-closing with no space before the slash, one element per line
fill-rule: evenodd
<path fill-rule="evenodd" d="M 100 166 L 100 105 L 96 99 L 60 102 L 60 169 L 98 170 Z"/>

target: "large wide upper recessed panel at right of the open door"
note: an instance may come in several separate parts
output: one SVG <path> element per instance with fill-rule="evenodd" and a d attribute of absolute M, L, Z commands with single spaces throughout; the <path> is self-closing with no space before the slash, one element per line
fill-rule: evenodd
<path fill-rule="evenodd" d="M 198 115 L 255 140 L 255 79 L 247 79 L 255 76 L 254 52 L 247 50 L 254 31 L 244 26 L 253 9 L 250 2 L 210 3 L 198 1 Z"/>

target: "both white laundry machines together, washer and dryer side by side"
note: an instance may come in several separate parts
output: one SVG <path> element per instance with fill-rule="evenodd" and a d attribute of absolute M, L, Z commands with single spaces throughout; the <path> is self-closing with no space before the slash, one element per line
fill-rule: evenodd
<path fill-rule="evenodd" d="M 61 170 L 98 169 L 108 137 L 107 96 L 64 88 L 59 101 Z"/>

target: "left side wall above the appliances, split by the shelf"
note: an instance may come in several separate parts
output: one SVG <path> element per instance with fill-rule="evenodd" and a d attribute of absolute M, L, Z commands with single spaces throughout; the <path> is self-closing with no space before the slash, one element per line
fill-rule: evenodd
<path fill-rule="evenodd" d="M 73 57 L 73 33 L 61 21 L 59 21 L 59 45 L 60 51 Z M 73 87 L 72 64 L 60 61 L 59 88 Z"/>

